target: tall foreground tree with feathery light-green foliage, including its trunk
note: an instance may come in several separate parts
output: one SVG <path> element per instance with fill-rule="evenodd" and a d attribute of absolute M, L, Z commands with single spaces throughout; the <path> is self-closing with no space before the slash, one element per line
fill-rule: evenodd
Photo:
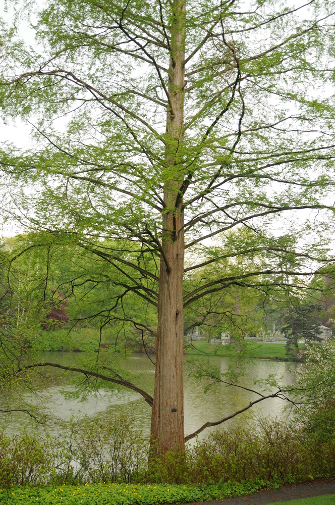
<path fill-rule="evenodd" d="M 46 234 L 76 248 L 73 289 L 118 287 L 101 325 L 152 331 L 157 310 L 151 431 L 183 447 L 184 309 L 194 326 L 232 285 L 295 289 L 332 260 L 334 3 L 32 6 L 2 25 L 3 119 L 32 126 L 30 149 L 2 145 L 3 209 L 43 231 L 27 247 L 41 240 L 45 278 Z"/>

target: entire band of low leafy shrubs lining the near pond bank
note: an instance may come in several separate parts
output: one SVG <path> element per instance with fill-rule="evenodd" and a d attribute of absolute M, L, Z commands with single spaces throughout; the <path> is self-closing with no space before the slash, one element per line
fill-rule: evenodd
<path fill-rule="evenodd" d="M 73 418 L 62 437 L 7 436 L 0 432 L 0 487 L 30 484 L 225 483 L 308 481 L 335 475 L 331 423 L 320 435 L 319 418 L 303 429 L 261 419 L 255 429 L 218 430 L 185 453 L 153 457 L 150 440 L 121 414 Z M 328 416 L 328 414 L 327 414 Z M 313 428 L 313 429 L 312 429 Z"/>

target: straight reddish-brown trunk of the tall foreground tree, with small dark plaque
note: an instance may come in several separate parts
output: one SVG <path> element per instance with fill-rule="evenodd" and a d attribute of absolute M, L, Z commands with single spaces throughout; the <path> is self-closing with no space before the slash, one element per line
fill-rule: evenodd
<path fill-rule="evenodd" d="M 184 450 L 184 215 L 179 194 L 184 178 L 185 0 L 173 3 L 169 107 L 166 117 L 162 249 L 158 287 L 156 375 L 151 436 L 156 453 Z M 177 205 L 176 205 L 177 204 Z"/>

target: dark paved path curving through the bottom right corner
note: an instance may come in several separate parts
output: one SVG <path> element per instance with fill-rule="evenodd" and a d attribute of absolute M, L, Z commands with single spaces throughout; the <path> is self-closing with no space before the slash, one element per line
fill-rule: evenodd
<path fill-rule="evenodd" d="M 259 493 L 249 494 L 248 496 L 203 501 L 201 505 L 265 505 L 265 503 L 309 498 L 310 496 L 321 496 L 322 494 L 335 494 L 334 479 L 317 479 L 308 484 L 287 485 L 278 489 L 263 489 Z"/>

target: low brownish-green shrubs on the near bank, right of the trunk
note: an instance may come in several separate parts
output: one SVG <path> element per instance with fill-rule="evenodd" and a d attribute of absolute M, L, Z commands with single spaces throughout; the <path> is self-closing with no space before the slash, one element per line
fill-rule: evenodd
<path fill-rule="evenodd" d="M 308 435 L 308 436 L 307 436 Z M 188 447 L 151 460 L 151 482 L 217 484 L 228 481 L 294 482 L 335 474 L 335 437 L 327 441 L 278 421 L 257 429 L 218 430 Z"/>

